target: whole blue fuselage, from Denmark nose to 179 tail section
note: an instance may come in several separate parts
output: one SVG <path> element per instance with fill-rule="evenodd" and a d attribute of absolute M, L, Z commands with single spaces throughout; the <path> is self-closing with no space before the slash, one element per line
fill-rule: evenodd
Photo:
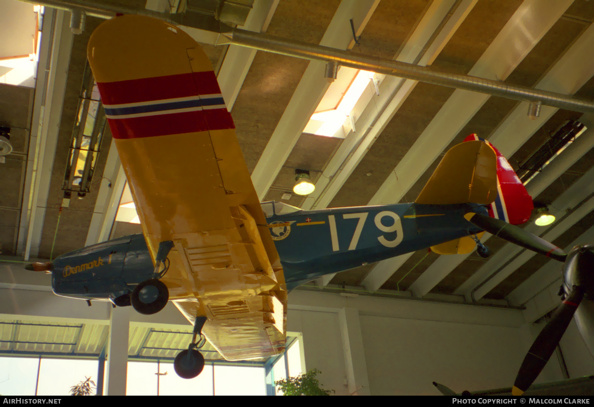
<path fill-rule="evenodd" d="M 322 275 L 479 233 L 464 215 L 487 212 L 472 203 L 293 209 L 289 214 L 271 210 L 266 219 L 288 290 Z M 144 236 L 135 234 L 57 257 L 52 285 L 56 294 L 67 297 L 113 300 L 155 277 Z"/>

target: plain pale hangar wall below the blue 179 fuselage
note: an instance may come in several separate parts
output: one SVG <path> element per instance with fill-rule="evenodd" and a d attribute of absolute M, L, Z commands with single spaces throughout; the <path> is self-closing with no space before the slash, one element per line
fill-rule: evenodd
<path fill-rule="evenodd" d="M 287 330 L 302 332 L 305 368 L 321 370 L 320 383 L 337 395 L 438 395 L 432 381 L 456 392 L 510 387 L 544 326 L 526 323 L 524 313 L 293 291 Z M 571 378 L 592 374 L 594 360 L 574 322 L 561 348 Z M 553 354 L 536 383 L 563 379 Z"/>

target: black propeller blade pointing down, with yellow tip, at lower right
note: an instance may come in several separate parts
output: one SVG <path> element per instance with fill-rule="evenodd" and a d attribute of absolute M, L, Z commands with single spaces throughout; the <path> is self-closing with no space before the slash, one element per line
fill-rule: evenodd
<path fill-rule="evenodd" d="M 522 362 L 522 366 L 520 366 L 514 386 L 511 388 L 511 394 L 521 396 L 530 387 L 532 382 L 536 380 L 536 377 L 541 374 L 553 351 L 559 345 L 561 337 L 565 333 L 583 297 L 583 290 L 574 285 L 569 296 L 555 310 L 551 320 L 549 320 L 530 347 L 528 354 Z"/>

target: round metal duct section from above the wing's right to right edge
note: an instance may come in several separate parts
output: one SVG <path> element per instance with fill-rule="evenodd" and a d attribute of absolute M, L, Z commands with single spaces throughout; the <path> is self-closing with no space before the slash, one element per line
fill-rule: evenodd
<path fill-rule="evenodd" d="M 469 75 L 445 74 L 434 71 L 426 66 L 361 55 L 350 51 L 293 40 L 279 39 L 268 34 L 252 33 L 251 31 L 239 30 L 238 28 L 223 35 L 232 44 L 267 52 L 302 59 L 336 61 L 339 65 L 349 66 L 350 68 L 365 69 L 366 71 L 374 71 L 380 74 L 393 75 L 429 84 L 485 93 L 513 100 L 541 101 L 542 104 L 547 106 L 572 110 L 574 112 L 594 112 L 593 101 L 575 98 L 561 93 L 505 84 L 505 82 Z"/>

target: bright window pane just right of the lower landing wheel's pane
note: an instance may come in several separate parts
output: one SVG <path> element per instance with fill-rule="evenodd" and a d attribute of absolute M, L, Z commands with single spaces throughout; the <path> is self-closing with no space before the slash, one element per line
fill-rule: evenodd
<path fill-rule="evenodd" d="M 215 365 L 214 395 L 266 396 L 264 368 Z"/>

